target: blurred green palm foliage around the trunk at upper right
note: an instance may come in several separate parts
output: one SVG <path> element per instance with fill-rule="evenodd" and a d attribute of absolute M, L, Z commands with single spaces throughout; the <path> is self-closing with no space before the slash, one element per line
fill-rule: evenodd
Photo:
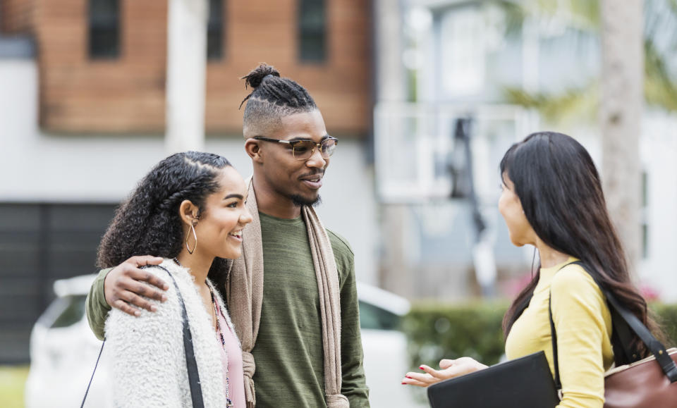
<path fill-rule="evenodd" d="M 526 0 L 494 1 L 515 25 L 527 18 L 534 21 L 557 20 L 571 32 L 592 41 L 599 41 L 601 16 L 599 0 Z M 677 112 L 677 67 L 671 56 L 677 50 L 677 0 L 645 1 L 645 83 L 644 96 L 648 106 Z M 518 30 L 511 30 L 518 32 Z M 520 88 L 504 88 L 508 103 L 536 109 L 551 125 L 595 123 L 598 119 L 599 76 L 585 87 L 563 89 L 561 92 L 530 93 Z"/>

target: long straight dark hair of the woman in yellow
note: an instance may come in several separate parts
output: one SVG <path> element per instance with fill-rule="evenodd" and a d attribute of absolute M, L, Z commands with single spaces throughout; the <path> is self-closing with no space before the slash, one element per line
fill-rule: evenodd
<path fill-rule="evenodd" d="M 585 262 L 597 282 L 647 327 L 659 331 L 647 313 L 647 302 L 630 281 L 626 255 L 606 210 L 597 168 L 585 148 L 561 133 L 533 133 L 508 149 L 500 168 L 501 177 L 513 182 L 527 221 L 544 244 Z M 533 295 L 539 268 L 506 312 L 506 337 Z M 638 338 L 632 346 L 647 354 Z"/>

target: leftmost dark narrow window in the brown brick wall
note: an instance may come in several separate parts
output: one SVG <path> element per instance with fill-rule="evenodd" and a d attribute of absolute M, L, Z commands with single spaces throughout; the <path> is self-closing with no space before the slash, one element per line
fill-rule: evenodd
<path fill-rule="evenodd" d="M 90 58 L 117 58 L 120 55 L 119 0 L 90 0 Z"/>

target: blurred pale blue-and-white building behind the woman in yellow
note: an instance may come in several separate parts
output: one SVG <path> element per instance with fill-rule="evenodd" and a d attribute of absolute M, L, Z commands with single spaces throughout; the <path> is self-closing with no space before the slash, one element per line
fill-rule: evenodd
<path fill-rule="evenodd" d="M 382 263 L 384 285 L 415 297 L 449 299 L 481 292 L 481 273 L 472 257 L 470 202 L 467 197 L 449 199 L 454 188 L 449 166 L 457 153 L 453 123 L 468 116 L 475 119 L 472 178 L 491 235 L 494 289 L 511 295 L 518 277 L 530 271 L 533 249 L 511 246 L 496 210 L 502 155 L 529 132 L 549 129 L 580 140 L 598 168 L 602 152 L 597 122 L 585 118 L 592 106 L 583 106 L 583 119 L 562 128 L 534 111 L 506 106 L 506 88 L 548 94 L 586 87 L 600 75 L 599 42 L 585 42 L 555 18 L 525 18 L 515 30 L 506 8 L 497 6 L 510 2 L 377 3 L 399 22 L 399 29 L 377 23 L 377 44 L 382 44 L 379 35 L 396 39 L 377 49 L 376 62 L 377 90 L 388 89 L 377 92 L 374 118 L 377 153 L 389 151 L 380 160 L 376 156 L 382 228 L 384 240 L 390 240 L 384 245 L 389 254 Z M 381 75 L 379 66 L 386 65 L 389 75 Z M 401 173 L 396 172 L 398 161 L 390 159 L 397 154 L 407 166 Z M 677 118 L 647 108 L 640 138 L 643 253 L 638 284 L 667 302 L 677 299 L 677 276 L 666 267 L 677 247 L 677 168 L 670 159 L 676 155 Z"/>

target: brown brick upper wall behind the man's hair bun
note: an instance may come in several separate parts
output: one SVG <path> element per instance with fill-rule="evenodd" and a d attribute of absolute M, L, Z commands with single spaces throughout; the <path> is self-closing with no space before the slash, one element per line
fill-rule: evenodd
<path fill-rule="evenodd" d="M 18 1 L 18 0 L 13 0 Z M 87 55 L 86 0 L 34 2 L 40 122 L 51 132 L 163 132 L 166 1 L 121 1 L 121 54 Z M 224 0 L 224 58 L 207 66 L 206 127 L 239 134 L 239 80 L 259 62 L 305 86 L 329 132 L 362 135 L 371 126 L 369 0 L 327 0 L 327 61 L 298 60 L 297 0 Z"/>

